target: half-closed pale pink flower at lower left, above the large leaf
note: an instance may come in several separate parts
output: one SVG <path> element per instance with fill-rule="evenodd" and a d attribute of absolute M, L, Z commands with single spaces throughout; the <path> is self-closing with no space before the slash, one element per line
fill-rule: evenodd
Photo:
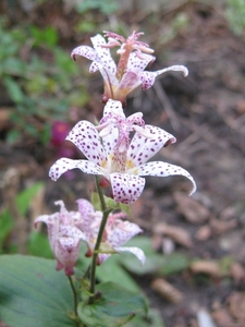
<path fill-rule="evenodd" d="M 78 211 L 68 211 L 63 201 L 54 203 L 60 211 L 52 215 L 41 215 L 35 219 L 45 222 L 52 253 L 57 259 L 57 270 L 64 269 L 65 275 L 74 274 L 74 266 L 79 255 L 81 241 L 85 239 L 78 229 L 82 217 Z"/>

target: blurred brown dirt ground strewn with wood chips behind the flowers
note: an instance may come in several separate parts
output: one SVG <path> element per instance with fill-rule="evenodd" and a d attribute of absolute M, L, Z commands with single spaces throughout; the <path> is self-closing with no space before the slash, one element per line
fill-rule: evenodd
<path fill-rule="evenodd" d="M 211 7 L 189 5 L 186 13 L 192 28 L 168 44 L 163 65 L 184 64 L 189 75 L 161 76 L 151 89 L 137 92 L 130 98 L 126 111 L 143 111 L 147 123 L 176 136 L 176 144 L 163 148 L 157 159 L 188 170 L 198 187 L 188 197 L 189 184 L 185 179 L 148 178 L 143 196 L 133 205 L 133 217 L 152 239 L 157 251 L 168 253 L 175 249 L 197 262 L 166 278 L 163 282 L 168 284 L 161 293 L 150 287 L 155 277 L 137 277 L 137 280 L 149 295 L 151 306 L 161 312 L 166 327 L 211 327 L 198 325 L 197 314 L 201 310 L 212 316 L 217 327 L 243 327 L 245 39 L 234 36 L 220 12 Z M 144 29 L 143 22 L 140 28 Z M 154 31 L 148 29 L 154 36 Z M 156 56 L 161 56 L 161 51 L 157 49 Z M 150 70 L 159 68 L 161 59 Z M 97 99 L 99 92 L 94 81 L 100 76 L 93 78 L 90 89 Z M 101 108 L 102 105 L 90 101 L 84 118 L 90 120 Z M 89 196 L 90 177 L 74 172 L 71 181 L 61 179 L 57 183 L 47 178 L 56 160 L 54 152 L 25 144 L 10 147 L 4 137 L 0 142 L 2 177 L 14 169 L 17 189 L 34 180 L 47 181 L 40 210 L 53 208 L 52 202 L 61 197 L 72 203 L 77 193 L 79 197 Z M 3 205 L 4 199 L 1 194 Z M 162 232 L 157 232 L 159 229 Z"/>

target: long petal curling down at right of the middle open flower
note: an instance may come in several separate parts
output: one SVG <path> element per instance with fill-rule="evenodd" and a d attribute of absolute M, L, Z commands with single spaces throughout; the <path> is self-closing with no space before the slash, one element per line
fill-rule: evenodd
<path fill-rule="evenodd" d="M 152 161 L 147 162 L 140 167 L 137 167 L 138 175 L 158 175 L 158 177 L 168 177 L 168 175 L 184 175 L 193 184 L 193 187 L 189 192 L 189 195 L 196 191 L 196 182 L 193 177 L 188 173 L 187 170 L 183 169 L 180 166 L 171 165 L 162 161 Z"/>

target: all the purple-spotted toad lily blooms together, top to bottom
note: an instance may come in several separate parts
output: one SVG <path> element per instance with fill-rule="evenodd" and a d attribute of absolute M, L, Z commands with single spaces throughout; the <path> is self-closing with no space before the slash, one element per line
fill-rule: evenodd
<path fill-rule="evenodd" d="M 183 175 L 192 183 L 189 195 L 195 192 L 196 183 L 193 177 L 182 167 L 162 161 L 148 161 L 162 147 L 174 143 L 175 137 L 160 128 L 146 124 L 142 112 L 127 118 L 124 114 L 126 96 L 136 87 L 151 87 L 156 77 L 167 71 L 181 71 L 185 76 L 188 73 L 183 65 L 173 65 L 156 72 L 145 71 L 155 57 L 151 55 L 154 50 L 138 40 L 142 35 L 143 33 L 134 32 L 124 38 L 106 32 L 105 37 L 91 37 L 94 48 L 79 46 L 72 51 L 74 60 L 76 56 L 82 56 L 93 61 L 89 69 L 91 73 L 100 71 L 105 82 L 102 100 L 106 106 L 97 125 L 83 120 L 69 133 L 66 140 L 72 142 L 86 159 L 60 158 L 49 171 L 53 181 L 64 172 L 77 168 L 85 173 L 100 177 L 100 187 L 110 186 L 110 194 L 115 203 L 127 205 L 140 196 L 146 175 Z M 114 47 L 119 47 L 118 64 L 110 52 Z M 60 211 L 39 216 L 35 225 L 42 221 L 48 227 L 51 249 L 58 263 L 57 269 L 64 268 L 66 275 L 74 274 L 82 241 L 85 241 L 88 247 L 86 256 L 95 255 L 94 267 L 96 258 L 97 264 L 101 264 L 112 253 L 124 251 L 136 255 L 142 264 L 145 262 L 140 249 L 121 246 L 142 232 L 137 225 L 122 219 L 125 216 L 123 213 L 107 216 L 106 211 L 96 211 L 86 199 L 77 201 L 78 211 L 68 211 L 62 201 L 56 204 L 60 205 Z"/>

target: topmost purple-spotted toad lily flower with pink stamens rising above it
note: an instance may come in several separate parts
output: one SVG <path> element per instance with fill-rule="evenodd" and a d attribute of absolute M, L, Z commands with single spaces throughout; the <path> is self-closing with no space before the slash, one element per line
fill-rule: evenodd
<path fill-rule="evenodd" d="M 144 33 L 135 33 L 126 39 L 121 35 L 105 32 L 108 43 L 100 35 L 91 37 L 94 49 L 88 46 L 79 46 L 75 48 L 71 57 L 75 60 L 76 56 L 85 57 L 93 61 L 89 72 L 100 71 L 103 83 L 105 93 L 102 100 L 106 104 L 109 98 L 120 100 L 125 105 L 126 96 L 138 86 L 142 89 L 151 87 L 158 75 L 168 71 L 181 71 L 184 76 L 188 71 L 183 65 L 172 65 L 156 72 L 144 71 L 146 66 L 155 61 L 155 57 L 150 53 L 152 49 L 145 43 L 138 41 Z M 111 57 L 110 48 L 120 47 L 117 53 L 120 56 L 118 65 Z"/>

